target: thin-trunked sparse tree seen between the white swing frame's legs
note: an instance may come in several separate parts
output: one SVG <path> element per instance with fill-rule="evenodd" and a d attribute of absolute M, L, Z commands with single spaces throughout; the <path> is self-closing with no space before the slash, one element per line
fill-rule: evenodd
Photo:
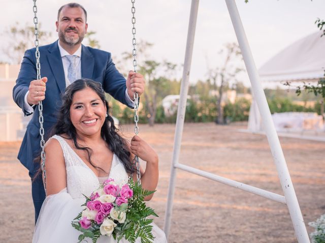
<path fill-rule="evenodd" d="M 208 82 L 211 82 L 214 96 L 217 100 L 218 116 L 215 122 L 217 124 L 224 124 L 222 94 L 231 81 L 237 81 L 236 76 L 239 72 L 243 71 L 243 69 L 239 68 L 236 63 L 238 60 L 242 59 L 238 44 L 226 44 L 225 49 L 222 49 L 219 53 L 225 53 L 223 64 L 221 67 L 208 67 Z"/>

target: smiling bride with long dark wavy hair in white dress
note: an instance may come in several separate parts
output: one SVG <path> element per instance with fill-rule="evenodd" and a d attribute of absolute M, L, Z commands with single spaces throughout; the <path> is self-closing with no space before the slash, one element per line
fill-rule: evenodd
<path fill-rule="evenodd" d="M 45 145 L 47 197 L 33 243 L 78 242 L 80 231 L 71 222 L 83 209 L 83 194 L 90 195 L 108 178 L 121 184 L 133 174 L 136 180 L 131 164 L 134 154 L 147 162 L 145 171 L 140 168 L 142 187 L 155 190 L 157 154 L 138 136 L 129 143 L 118 135 L 100 83 L 79 79 L 67 88 L 52 134 Z M 151 197 L 152 194 L 145 200 Z M 155 224 L 152 233 L 154 242 L 167 242 L 164 231 Z M 90 238 L 86 239 L 90 242 Z M 116 241 L 112 236 L 102 235 L 97 242 Z"/>

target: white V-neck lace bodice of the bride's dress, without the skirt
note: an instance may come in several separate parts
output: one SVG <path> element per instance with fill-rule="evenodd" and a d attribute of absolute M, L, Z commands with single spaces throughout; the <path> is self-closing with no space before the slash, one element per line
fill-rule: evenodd
<path fill-rule="evenodd" d="M 83 194 L 90 196 L 91 192 L 98 189 L 100 185 L 99 178 L 96 177 L 66 140 L 58 135 L 54 135 L 52 138 L 59 141 L 66 161 L 68 193 L 72 198 L 82 198 Z M 113 154 L 109 178 L 114 179 L 118 184 L 127 183 L 127 173 L 115 153 Z"/>

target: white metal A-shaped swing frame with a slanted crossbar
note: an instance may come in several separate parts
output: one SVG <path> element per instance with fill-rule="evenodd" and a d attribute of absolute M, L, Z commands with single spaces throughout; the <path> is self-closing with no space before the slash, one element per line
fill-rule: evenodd
<path fill-rule="evenodd" d="M 174 190 L 175 190 L 175 180 L 176 180 L 176 169 L 181 169 L 183 171 L 187 171 L 189 173 L 193 173 L 199 176 L 203 176 L 205 178 L 221 182 L 226 185 L 230 185 L 236 187 L 238 189 L 248 191 L 254 193 L 259 196 L 263 196 L 269 198 L 274 201 L 278 201 L 279 203 L 286 204 L 288 207 L 288 211 L 291 217 L 291 221 L 293 222 L 296 237 L 299 243 L 310 243 L 307 229 L 303 220 L 303 216 L 301 214 L 301 210 L 298 204 L 298 199 L 295 193 L 295 189 L 293 183 L 291 181 L 288 168 L 286 166 L 286 162 L 284 159 L 284 155 L 282 152 L 282 148 L 280 145 L 279 138 L 277 136 L 273 120 L 271 117 L 271 112 L 264 94 L 264 91 L 261 86 L 261 82 L 259 81 L 259 76 L 257 73 L 257 69 L 248 45 L 248 41 L 246 38 L 246 34 L 238 13 L 238 9 L 235 3 L 235 0 L 225 0 L 226 5 L 228 7 L 229 14 L 232 19 L 232 23 L 236 32 L 236 36 L 238 39 L 238 43 L 244 58 L 245 66 L 247 69 L 247 73 L 250 79 L 250 83 L 252 86 L 252 91 L 254 97 L 257 102 L 257 106 L 262 115 L 263 125 L 266 131 L 266 135 L 269 141 L 269 145 L 271 148 L 271 152 L 273 155 L 274 163 L 276 165 L 276 169 L 278 172 L 278 176 L 280 179 L 282 191 L 284 196 L 278 195 L 273 192 L 269 192 L 263 190 L 261 188 L 256 188 L 253 186 L 249 186 L 234 180 L 230 180 L 221 176 L 217 176 L 205 171 L 201 171 L 195 168 L 191 168 L 186 165 L 182 165 L 178 163 L 183 126 L 184 126 L 184 118 L 185 118 L 185 108 L 186 108 L 186 100 L 188 93 L 188 85 L 189 85 L 189 73 L 190 73 L 190 65 L 192 59 L 192 51 L 194 44 L 194 35 L 196 30 L 196 22 L 198 16 L 198 8 L 199 8 L 199 0 L 192 0 L 190 17 L 189 17 L 189 26 L 187 33 L 187 43 L 186 43 L 186 53 L 185 53 L 185 61 L 184 61 L 184 69 L 183 69 L 183 77 L 181 83 L 181 91 L 180 91 L 180 99 L 177 111 L 177 120 L 176 120 L 176 130 L 175 130 L 175 138 L 174 138 L 174 151 L 173 151 L 173 159 L 171 166 L 171 176 L 170 183 L 168 188 L 168 200 L 167 200 L 167 208 L 165 214 L 165 225 L 164 231 L 168 238 L 172 217 L 172 208 L 173 208 L 173 199 L 174 199 Z"/>

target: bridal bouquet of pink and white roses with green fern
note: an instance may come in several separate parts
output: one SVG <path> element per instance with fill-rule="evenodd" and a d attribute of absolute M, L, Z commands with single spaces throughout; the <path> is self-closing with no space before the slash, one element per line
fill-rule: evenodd
<path fill-rule="evenodd" d="M 154 191 L 147 191 L 141 184 L 133 182 L 118 185 L 114 179 L 108 179 L 99 189 L 86 197 L 82 206 L 86 208 L 72 221 L 72 226 L 81 231 L 80 243 L 85 237 L 95 243 L 101 235 L 113 236 L 119 242 L 125 238 L 135 242 L 138 237 L 141 242 L 152 242 L 152 219 L 158 217 L 154 210 L 146 207 L 144 197 Z"/>

